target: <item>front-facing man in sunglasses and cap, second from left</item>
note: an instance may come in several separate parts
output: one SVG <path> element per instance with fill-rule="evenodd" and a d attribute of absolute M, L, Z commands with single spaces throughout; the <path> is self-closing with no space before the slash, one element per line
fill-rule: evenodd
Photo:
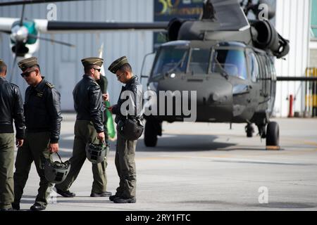
<path fill-rule="evenodd" d="M 47 198 L 53 184 L 46 181 L 43 160 L 50 158 L 49 153 L 58 152 L 58 139 L 61 133 L 61 96 L 54 86 L 42 77 L 37 58 L 25 58 L 18 63 L 21 76 L 29 84 L 25 91 L 25 141 L 18 148 L 14 173 L 15 210 L 20 210 L 20 199 L 27 182 L 32 162 L 39 174 L 39 189 L 35 204 L 30 210 L 45 210 Z"/>

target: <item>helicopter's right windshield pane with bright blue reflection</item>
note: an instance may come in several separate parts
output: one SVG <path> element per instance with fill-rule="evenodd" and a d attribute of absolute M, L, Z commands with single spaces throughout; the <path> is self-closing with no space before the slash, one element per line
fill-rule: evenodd
<path fill-rule="evenodd" d="M 213 53 L 211 72 L 223 72 L 229 76 L 247 79 L 244 51 L 237 49 L 216 49 Z"/>

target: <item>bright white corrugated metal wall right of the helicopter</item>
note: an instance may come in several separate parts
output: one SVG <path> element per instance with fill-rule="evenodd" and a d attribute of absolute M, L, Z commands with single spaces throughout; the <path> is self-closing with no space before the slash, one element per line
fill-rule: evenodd
<path fill-rule="evenodd" d="M 309 0 L 278 0 L 276 4 L 276 30 L 290 40 L 290 53 L 286 60 L 275 60 L 278 76 L 305 76 L 309 65 Z M 304 110 L 304 82 L 278 82 L 275 114 L 288 115 L 287 96 L 296 95 L 294 111 Z"/>

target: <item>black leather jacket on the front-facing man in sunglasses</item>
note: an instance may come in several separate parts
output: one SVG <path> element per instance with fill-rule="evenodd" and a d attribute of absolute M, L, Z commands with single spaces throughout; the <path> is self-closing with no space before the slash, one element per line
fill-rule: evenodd
<path fill-rule="evenodd" d="M 61 134 L 61 95 L 54 86 L 42 79 L 37 86 L 25 91 L 25 124 L 27 132 L 50 132 L 50 142 L 58 143 Z"/>

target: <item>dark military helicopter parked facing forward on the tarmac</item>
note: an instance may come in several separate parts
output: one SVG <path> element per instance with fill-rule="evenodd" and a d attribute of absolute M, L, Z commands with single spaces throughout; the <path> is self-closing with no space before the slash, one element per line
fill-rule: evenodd
<path fill-rule="evenodd" d="M 157 94 L 148 107 L 166 110 L 159 104 L 166 104 L 166 96 L 160 99 L 159 91 L 197 91 L 196 122 L 247 123 L 247 137 L 252 136 L 254 123 L 266 148 L 279 149 L 279 126 L 270 120 L 276 82 L 307 79 L 277 77 L 273 60 L 287 55 L 289 41 L 268 20 L 275 15 L 271 8 L 266 20 L 247 20 L 247 13 L 257 15 L 262 3 L 208 0 L 200 20 L 171 20 L 169 41 L 157 50 L 149 77 L 142 76 Z M 171 101 L 175 108 L 175 99 Z M 185 119 L 175 110 L 146 116 L 145 145 L 156 146 L 163 121 Z"/>

